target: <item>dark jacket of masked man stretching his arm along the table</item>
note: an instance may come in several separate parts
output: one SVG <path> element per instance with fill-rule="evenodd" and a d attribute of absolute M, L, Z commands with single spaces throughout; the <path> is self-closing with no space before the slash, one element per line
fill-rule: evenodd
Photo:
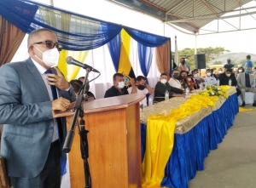
<path fill-rule="evenodd" d="M 169 83 L 163 84 L 161 82 L 156 83 L 154 87 L 154 100 L 162 101 L 165 100 L 166 89 L 169 92 L 169 98 L 172 97 L 172 94 L 183 94 L 183 90 L 180 88 L 174 88 Z M 160 98 L 158 98 L 160 97 Z"/>

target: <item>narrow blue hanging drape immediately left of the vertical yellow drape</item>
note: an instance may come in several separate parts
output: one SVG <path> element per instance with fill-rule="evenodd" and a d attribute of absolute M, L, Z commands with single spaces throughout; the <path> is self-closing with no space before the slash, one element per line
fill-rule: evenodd
<path fill-rule="evenodd" d="M 116 72 L 118 72 L 120 50 L 121 50 L 121 35 L 120 35 L 120 33 L 108 43 L 108 50 L 109 50 L 111 59 L 113 61 L 114 70 Z"/>

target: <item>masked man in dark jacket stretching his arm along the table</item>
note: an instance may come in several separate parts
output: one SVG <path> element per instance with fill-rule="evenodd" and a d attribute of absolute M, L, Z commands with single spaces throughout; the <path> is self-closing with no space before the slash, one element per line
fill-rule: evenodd
<path fill-rule="evenodd" d="M 171 97 L 183 97 L 183 89 L 173 88 L 167 83 L 166 73 L 162 73 L 160 76 L 160 81 L 156 83 L 154 87 L 154 100 L 162 101 L 165 100 L 166 90 L 169 92 L 169 98 Z"/>

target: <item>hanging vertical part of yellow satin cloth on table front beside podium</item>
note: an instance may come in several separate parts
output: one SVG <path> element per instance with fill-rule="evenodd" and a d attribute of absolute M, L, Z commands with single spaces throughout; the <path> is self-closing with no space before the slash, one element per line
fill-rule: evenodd
<path fill-rule="evenodd" d="M 177 119 L 152 115 L 148 117 L 146 151 L 143 159 L 143 188 L 159 188 L 166 163 L 172 153 Z"/>

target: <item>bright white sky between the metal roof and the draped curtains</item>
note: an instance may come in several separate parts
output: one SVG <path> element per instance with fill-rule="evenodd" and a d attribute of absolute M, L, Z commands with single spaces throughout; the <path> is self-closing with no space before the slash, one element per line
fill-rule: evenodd
<path fill-rule="evenodd" d="M 49 4 L 50 0 L 37 0 L 40 3 Z M 71 2 L 72 1 L 72 6 Z M 61 9 L 66 9 L 78 14 L 84 14 L 99 20 L 106 20 L 116 24 L 130 26 L 142 31 L 148 31 L 160 36 L 171 37 L 172 51 L 174 51 L 174 38 L 177 36 L 177 49 L 183 48 L 207 48 L 207 47 L 224 47 L 230 50 L 232 53 L 245 52 L 247 54 L 256 54 L 256 30 L 247 31 L 232 31 L 211 35 L 199 35 L 195 36 L 184 34 L 181 31 L 177 31 L 171 26 L 164 26 L 163 22 L 153 17 L 142 14 L 137 11 L 133 11 L 129 8 L 125 8 L 117 3 L 111 3 L 106 0 L 54 0 L 54 6 Z M 244 7 L 256 6 L 256 2 L 252 1 L 247 3 Z M 250 11 L 256 11 L 255 9 Z M 256 18 L 256 15 L 254 16 Z M 242 17 L 241 28 L 255 27 L 256 20 L 252 16 L 248 15 Z M 230 23 L 234 26 L 239 26 L 239 19 L 230 19 Z M 225 24 L 223 20 L 217 23 L 217 20 L 204 26 L 207 30 L 217 30 L 219 26 L 220 31 L 227 31 L 232 26 Z M 201 34 L 201 32 L 200 32 Z M 26 39 L 20 45 L 20 48 L 15 54 L 14 60 L 24 56 L 26 58 Z M 22 58 L 23 59 L 23 58 Z"/>

